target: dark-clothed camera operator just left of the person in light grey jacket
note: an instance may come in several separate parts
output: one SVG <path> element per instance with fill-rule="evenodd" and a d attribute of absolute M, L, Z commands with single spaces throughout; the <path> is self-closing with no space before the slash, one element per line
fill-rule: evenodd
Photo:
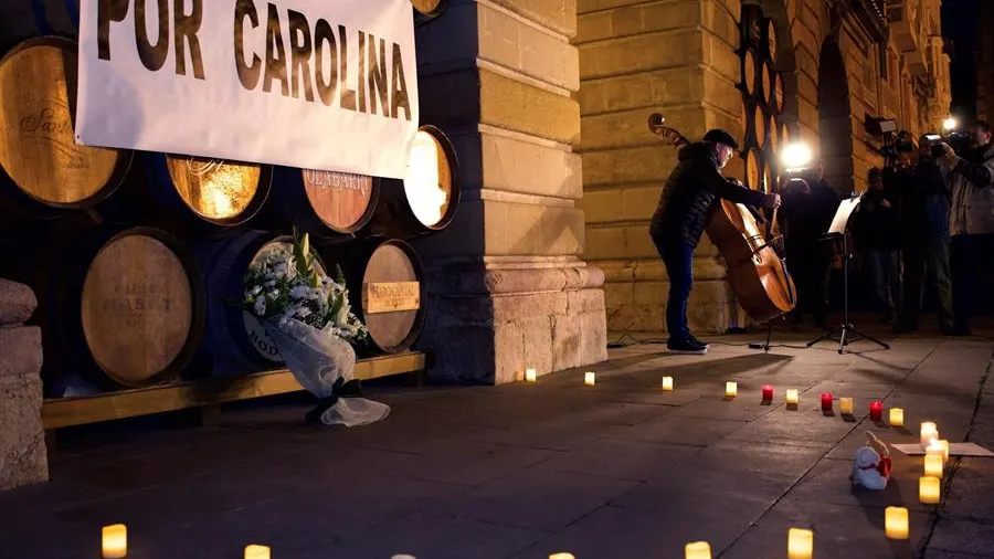
<path fill-rule="evenodd" d="M 923 288 L 934 294 L 939 306 L 939 328 L 951 334 L 953 327 L 952 285 L 949 266 L 950 191 L 937 157 L 945 150 L 928 135 L 918 140 L 918 164 L 911 169 L 901 191 L 901 253 L 905 262 L 901 312 L 893 326 L 896 334 L 918 329 Z"/>

